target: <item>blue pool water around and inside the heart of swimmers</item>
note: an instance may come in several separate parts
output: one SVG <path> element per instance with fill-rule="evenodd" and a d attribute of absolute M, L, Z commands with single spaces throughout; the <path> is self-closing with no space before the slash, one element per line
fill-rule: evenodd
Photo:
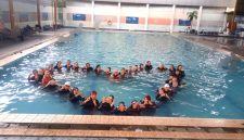
<path fill-rule="evenodd" d="M 42 91 L 26 80 L 34 68 L 69 59 L 79 65 L 90 62 L 103 68 L 128 67 L 152 61 L 183 64 L 187 86 L 172 102 L 160 105 L 155 116 L 244 118 L 244 62 L 221 52 L 198 47 L 168 35 L 125 33 L 81 33 L 67 42 L 54 43 L 0 67 L 1 113 L 82 114 L 81 107 L 65 97 Z M 72 82 L 88 96 L 97 90 L 99 99 L 114 94 L 115 102 L 143 99 L 164 84 L 166 74 L 140 74 L 120 82 L 85 74 L 63 74 L 54 77 L 59 82 Z"/>

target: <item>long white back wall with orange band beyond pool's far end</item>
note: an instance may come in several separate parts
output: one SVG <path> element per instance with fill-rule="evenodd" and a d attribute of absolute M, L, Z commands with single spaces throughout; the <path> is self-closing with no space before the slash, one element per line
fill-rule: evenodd
<path fill-rule="evenodd" d="M 198 11 L 201 13 L 200 24 L 193 20 L 194 29 L 219 31 L 226 26 L 227 7 L 211 8 L 196 5 L 162 5 L 142 3 L 117 3 L 117 2 L 74 2 L 68 1 L 66 7 L 67 16 L 64 22 L 66 26 L 113 28 L 129 30 L 157 30 L 157 31 L 184 31 L 188 26 L 179 25 L 179 21 L 187 21 L 188 12 Z M 73 14 L 85 14 L 86 21 L 73 21 Z M 92 18 L 93 17 L 93 18 Z M 127 23 L 127 17 L 137 17 L 138 23 Z M 108 21 L 111 24 L 108 24 Z"/>

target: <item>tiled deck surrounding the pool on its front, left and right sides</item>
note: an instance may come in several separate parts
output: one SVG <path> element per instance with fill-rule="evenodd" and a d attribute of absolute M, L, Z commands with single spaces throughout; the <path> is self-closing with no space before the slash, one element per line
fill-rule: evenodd
<path fill-rule="evenodd" d="M 43 33 L 21 43 L 0 48 L 0 66 L 40 48 L 68 37 L 73 29 Z M 113 31 L 113 30 L 110 30 Z M 152 33 L 151 33 L 152 34 Z M 188 35 L 174 35 L 189 41 L 234 52 L 229 44 L 219 44 L 213 39 Z M 214 39 L 215 40 L 215 39 Z M 240 49 L 243 49 L 240 47 Z M 239 52 L 239 55 L 244 56 Z M 241 139 L 244 140 L 244 119 L 211 119 L 181 117 L 140 117 L 103 115 L 48 115 L 0 114 L 0 139 L 75 138 L 128 138 L 128 139 Z"/>

